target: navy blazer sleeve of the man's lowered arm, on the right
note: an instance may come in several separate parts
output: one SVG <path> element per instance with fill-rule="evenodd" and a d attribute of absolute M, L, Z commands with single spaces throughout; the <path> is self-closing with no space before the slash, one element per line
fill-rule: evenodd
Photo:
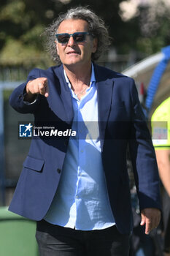
<path fill-rule="evenodd" d="M 131 139 L 129 151 L 134 170 L 139 207 L 161 209 L 160 180 L 155 150 L 145 121 L 134 80 L 131 86 Z"/>

